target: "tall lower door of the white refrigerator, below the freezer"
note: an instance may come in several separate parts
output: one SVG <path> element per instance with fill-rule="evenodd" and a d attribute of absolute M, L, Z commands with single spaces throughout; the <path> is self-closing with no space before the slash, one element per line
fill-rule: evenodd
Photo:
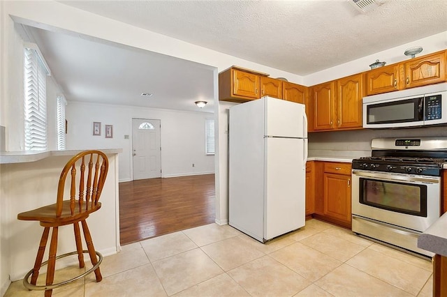
<path fill-rule="evenodd" d="M 307 139 L 265 138 L 264 238 L 305 225 Z"/>

